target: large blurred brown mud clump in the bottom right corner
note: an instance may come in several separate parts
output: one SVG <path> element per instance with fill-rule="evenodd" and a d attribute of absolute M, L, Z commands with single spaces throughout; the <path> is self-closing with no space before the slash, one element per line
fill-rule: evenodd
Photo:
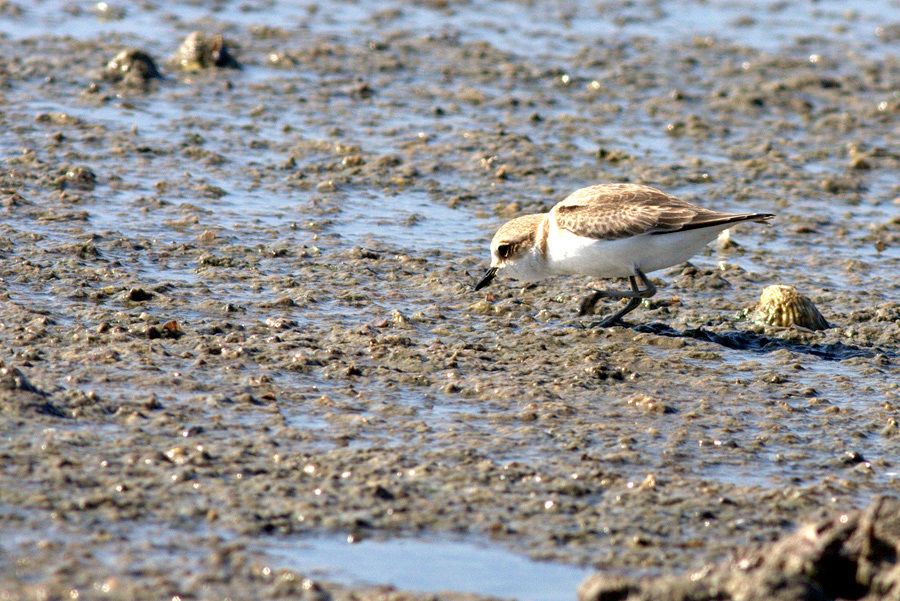
<path fill-rule="evenodd" d="M 592 576 L 580 601 L 896 599 L 900 499 L 803 527 L 769 546 L 684 576 L 637 581 Z"/>

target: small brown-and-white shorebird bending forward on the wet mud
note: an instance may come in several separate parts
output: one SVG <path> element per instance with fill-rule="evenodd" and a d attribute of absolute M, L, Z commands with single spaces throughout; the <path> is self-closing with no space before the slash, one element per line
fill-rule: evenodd
<path fill-rule="evenodd" d="M 597 324 L 609 327 L 656 294 L 645 274 L 687 261 L 734 223 L 772 217 L 711 211 L 638 184 L 588 186 L 549 213 L 503 224 L 491 240 L 491 267 L 475 290 L 499 272 L 525 282 L 554 275 L 627 277 L 631 291 L 596 290 L 581 303 L 579 315 L 587 315 L 601 298 L 629 299 Z"/>

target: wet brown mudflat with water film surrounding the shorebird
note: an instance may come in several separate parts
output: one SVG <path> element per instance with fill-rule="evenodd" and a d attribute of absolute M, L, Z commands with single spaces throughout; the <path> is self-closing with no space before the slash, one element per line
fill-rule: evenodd
<path fill-rule="evenodd" d="M 630 579 L 896 495 L 889 6 L 73 6 L 0 3 L 7 597 L 479 598 L 267 548 Z M 777 217 L 627 327 L 577 315 L 608 282 L 472 290 L 604 181 Z M 755 320 L 775 284 L 830 327 Z"/>

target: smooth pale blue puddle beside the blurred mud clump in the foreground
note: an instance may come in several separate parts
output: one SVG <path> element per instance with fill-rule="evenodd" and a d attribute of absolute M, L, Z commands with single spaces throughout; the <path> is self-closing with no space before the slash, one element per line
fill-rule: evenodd
<path fill-rule="evenodd" d="M 320 538 L 275 542 L 279 565 L 346 584 L 390 584 L 422 592 L 463 591 L 517 601 L 572 601 L 588 568 L 535 561 L 509 551 L 441 540 Z"/>

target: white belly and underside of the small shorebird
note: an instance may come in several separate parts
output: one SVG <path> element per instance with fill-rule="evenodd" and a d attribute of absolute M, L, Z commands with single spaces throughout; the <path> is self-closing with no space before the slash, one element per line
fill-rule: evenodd
<path fill-rule="evenodd" d="M 597 240 L 551 227 L 547 237 L 547 267 L 554 274 L 582 274 L 596 278 L 624 278 L 684 263 L 700 252 L 728 225 L 674 232 L 642 234 L 620 240 Z"/>

